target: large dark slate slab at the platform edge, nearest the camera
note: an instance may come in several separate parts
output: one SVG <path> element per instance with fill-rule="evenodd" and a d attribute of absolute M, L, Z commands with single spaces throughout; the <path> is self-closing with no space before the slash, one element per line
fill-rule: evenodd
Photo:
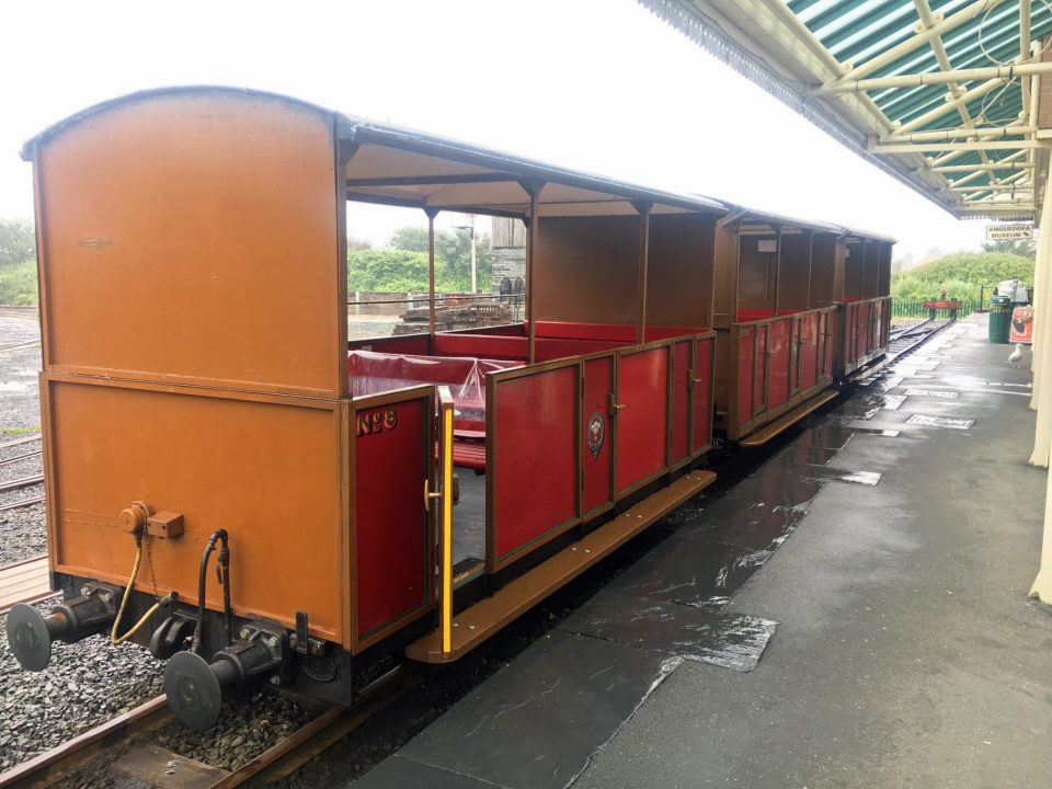
<path fill-rule="evenodd" d="M 354 786 L 562 789 L 677 665 L 662 652 L 554 630 Z M 481 784 L 428 784 L 405 761 Z"/>

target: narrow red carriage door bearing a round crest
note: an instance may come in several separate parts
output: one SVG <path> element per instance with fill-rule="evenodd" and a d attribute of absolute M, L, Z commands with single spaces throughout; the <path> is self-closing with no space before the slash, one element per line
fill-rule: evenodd
<path fill-rule="evenodd" d="M 581 412 L 581 445 L 584 458 L 584 491 L 581 508 L 588 514 L 611 501 L 610 418 L 608 409 L 614 393 L 614 356 L 601 356 L 584 363 L 584 399 Z"/>

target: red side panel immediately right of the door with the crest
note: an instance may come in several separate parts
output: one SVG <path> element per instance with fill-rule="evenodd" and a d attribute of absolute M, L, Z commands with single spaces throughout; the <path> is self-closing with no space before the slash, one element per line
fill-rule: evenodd
<path fill-rule="evenodd" d="M 618 358 L 615 431 L 617 490 L 665 466 L 668 425 L 668 347 L 629 352 Z"/>

